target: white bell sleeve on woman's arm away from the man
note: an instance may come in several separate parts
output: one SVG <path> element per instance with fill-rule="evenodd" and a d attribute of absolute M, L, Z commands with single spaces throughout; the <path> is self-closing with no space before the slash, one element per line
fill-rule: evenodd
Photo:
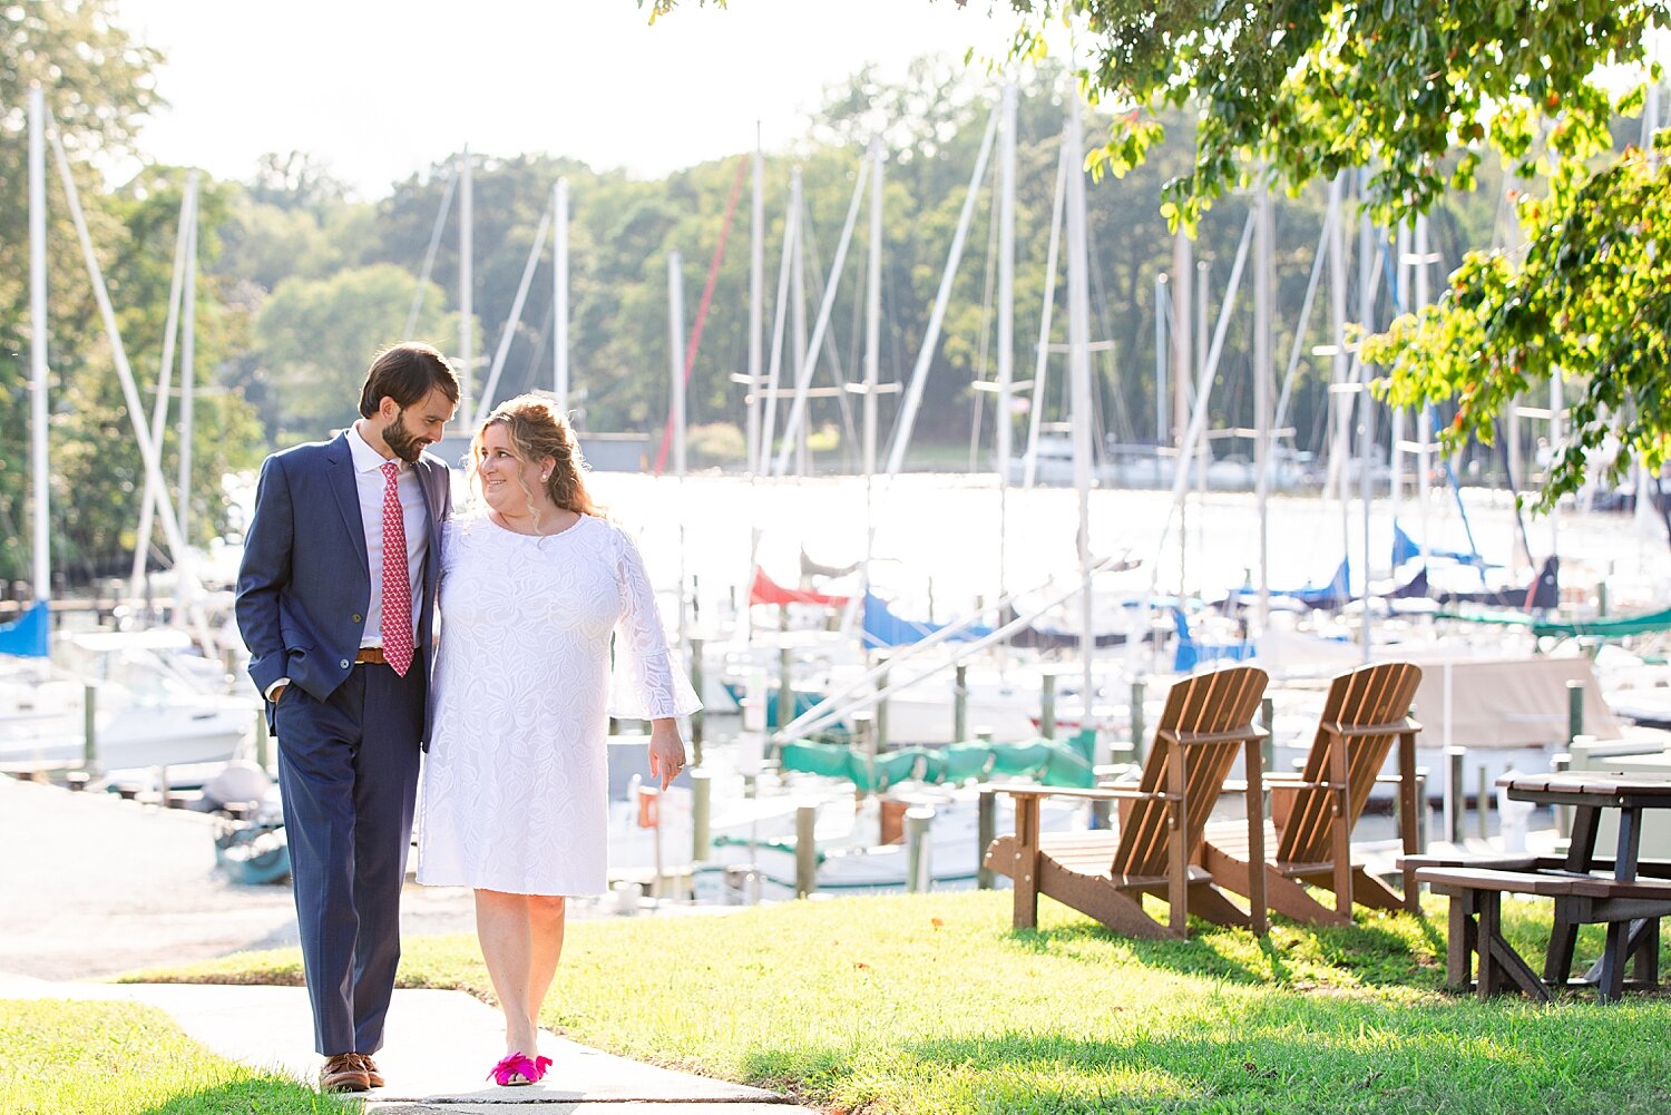
<path fill-rule="evenodd" d="M 610 715 L 652 720 L 688 715 L 702 707 L 685 669 L 667 645 L 655 590 L 638 547 L 625 532 L 615 533 L 615 583 L 622 619 L 615 627 L 615 669 L 610 679 Z"/>

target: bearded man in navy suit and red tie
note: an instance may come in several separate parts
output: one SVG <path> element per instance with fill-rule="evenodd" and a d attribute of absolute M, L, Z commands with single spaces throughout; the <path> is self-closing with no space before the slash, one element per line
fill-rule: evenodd
<path fill-rule="evenodd" d="M 359 421 L 274 453 L 237 573 L 249 675 L 279 741 L 279 792 L 314 1041 L 328 1092 L 383 1087 L 371 1053 L 399 963 L 446 465 L 424 453 L 458 405 L 428 344 L 366 373 Z"/>

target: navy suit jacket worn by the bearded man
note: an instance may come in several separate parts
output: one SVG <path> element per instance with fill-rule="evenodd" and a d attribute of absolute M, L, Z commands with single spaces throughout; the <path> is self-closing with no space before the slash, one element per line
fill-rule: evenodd
<path fill-rule="evenodd" d="M 441 580 L 441 523 L 453 512 L 453 490 L 441 458 L 424 453 L 414 465 L 429 508 L 418 649 L 424 669 L 434 660 L 436 585 Z M 249 647 L 249 675 L 262 694 L 289 677 L 326 700 L 354 669 L 371 565 L 366 527 L 348 435 L 274 453 L 261 466 L 256 513 L 244 535 L 237 570 L 237 629 Z M 271 715 L 271 705 L 269 705 Z M 429 702 L 424 700 L 424 742 Z"/>

